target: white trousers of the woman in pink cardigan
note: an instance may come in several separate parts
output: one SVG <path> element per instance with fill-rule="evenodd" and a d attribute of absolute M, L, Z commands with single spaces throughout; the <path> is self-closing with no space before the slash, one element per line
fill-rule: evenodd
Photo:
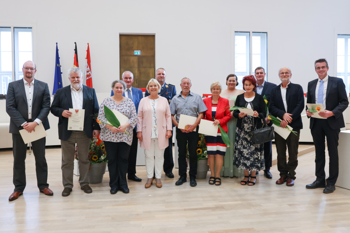
<path fill-rule="evenodd" d="M 159 150 L 158 138 L 151 138 L 151 149 L 145 151 L 145 163 L 147 178 L 153 177 L 153 171 L 157 179 L 161 178 L 164 164 L 164 150 Z"/>

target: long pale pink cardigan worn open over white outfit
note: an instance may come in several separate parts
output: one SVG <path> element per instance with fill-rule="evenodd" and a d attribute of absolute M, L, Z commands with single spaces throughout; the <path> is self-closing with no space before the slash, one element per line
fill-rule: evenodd
<path fill-rule="evenodd" d="M 159 96 L 157 102 L 157 129 L 159 150 L 169 146 L 169 139 L 166 138 L 167 130 L 173 130 L 170 107 L 168 100 Z M 140 147 L 145 150 L 151 149 L 152 129 L 152 108 L 148 97 L 142 98 L 138 110 L 137 132 L 142 132 Z"/>

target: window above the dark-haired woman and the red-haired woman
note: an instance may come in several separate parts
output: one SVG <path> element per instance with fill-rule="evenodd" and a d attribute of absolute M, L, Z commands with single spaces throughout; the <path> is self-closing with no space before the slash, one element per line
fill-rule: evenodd
<path fill-rule="evenodd" d="M 239 86 L 244 76 L 254 75 L 256 67 L 267 70 L 267 33 L 235 32 L 235 74 Z"/>

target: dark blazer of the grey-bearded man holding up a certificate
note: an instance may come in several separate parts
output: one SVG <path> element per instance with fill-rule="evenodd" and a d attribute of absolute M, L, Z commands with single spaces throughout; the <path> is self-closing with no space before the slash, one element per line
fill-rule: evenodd
<path fill-rule="evenodd" d="M 67 141 L 70 138 L 71 130 L 68 130 L 68 118 L 63 117 L 64 110 L 73 108 L 71 99 L 70 85 L 57 90 L 51 104 L 51 113 L 58 117 L 58 138 Z M 83 85 L 83 109 L 84 114 L 84 131 L 88 138 L 92 138 L 94 130 L 101 130 L 100 125 L 93 119 L 93 115 L 99 112 L 99 105 L 96 98 L 95 89 Z"/>

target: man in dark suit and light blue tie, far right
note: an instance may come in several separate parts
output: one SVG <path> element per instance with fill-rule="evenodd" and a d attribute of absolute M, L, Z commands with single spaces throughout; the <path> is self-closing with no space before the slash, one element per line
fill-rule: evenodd
<path fill-rule="evenodd" d="M 307 103 L 323 104 L 324 112 L 319 116 L 326 119 L 312 117 L 306 106 L 306 114 L 310 118 L 310 129 L 315 144 L 316 180 L 306 185 L 306 188 L 324 188 L 324 193 L 333 193 L 339 173 L 338 139 L 340 129 L 345 127 L 343 112 L 349 105 L 345 85 L 342 79 L 328 76 L 328 62 L 326 59 L 315 61 L 315 71 L 318 79 L 308 84 Z M 326 164 L 325 137 L 329 156 L 329 177 L 326 179 L 324 167 Z"/>

